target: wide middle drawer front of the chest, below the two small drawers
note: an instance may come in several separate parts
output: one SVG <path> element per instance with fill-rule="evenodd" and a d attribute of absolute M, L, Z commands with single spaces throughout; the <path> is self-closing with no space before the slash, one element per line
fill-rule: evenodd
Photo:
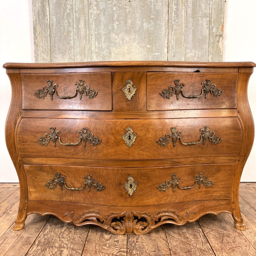
<path fill-rule="evenodd" d="M 50 129 L 52 127 L 55 129 Z M 173 127 L 176 130 L 170 130 Z M 220 155 L 238 155 L 241 140 L 241 127 L 236 117 L 140 120 L 24 118 L 17 134 L 21 157 L 122 160 L 209 157 L 209 163 L 211 158 L 214 160 Z"/>

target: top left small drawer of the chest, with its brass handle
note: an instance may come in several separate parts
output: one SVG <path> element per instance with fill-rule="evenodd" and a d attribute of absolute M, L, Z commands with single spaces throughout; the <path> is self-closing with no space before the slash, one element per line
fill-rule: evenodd
<path fill-rule="evenodd" d="M 111 73 L 21 74 L 24 110 L 111 111 Z"/>

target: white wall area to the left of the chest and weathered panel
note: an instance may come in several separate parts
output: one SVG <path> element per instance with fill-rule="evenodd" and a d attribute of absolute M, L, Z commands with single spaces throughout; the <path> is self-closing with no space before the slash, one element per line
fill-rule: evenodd
<path fill-rule="evenodd" d="M 0 0 L 0 182 L 18 182 L 4 139 L 11 101 L 6 62 L 34 62 L 32 0 Z"/>

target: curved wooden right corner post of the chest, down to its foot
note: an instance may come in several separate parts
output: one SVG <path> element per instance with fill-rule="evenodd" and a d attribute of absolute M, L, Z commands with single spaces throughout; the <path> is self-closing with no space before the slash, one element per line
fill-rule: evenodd
<path fill-rule="evenodd" d="M 232 204 L 234 225 L 239 230 L 244 230 L 245 225 L 241 218 L 239 208 L 239 183 L 244 169 L 244 165 L 253 147 L 254 140 L 254 122 L 250 111 L 250 106 L 247 96 L 248 81 L 253 73 L 253 68 L 239 68 L 238 84 L 237 84 L 237 117 L 242 129 L 242 145 L 239 157 L 236 163 L 235 177 L 233 180 L 232 189 Z"/>

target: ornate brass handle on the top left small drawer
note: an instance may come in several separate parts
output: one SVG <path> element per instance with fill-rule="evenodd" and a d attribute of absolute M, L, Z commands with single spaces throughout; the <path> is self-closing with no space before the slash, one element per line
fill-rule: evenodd
<path fill-rule="evenodd" d="M 98 92 L 96 92 L 93 89 L 90 89 L 90 85 L 89 84 L 84 84 L 84 80 L 79 80 L 79 82 L 76 82 L 77 88 L 76 88 L 76 92 L 73 96 L 59 96 L 58 92 L 57 92 L 57 87 L 58 84 L 54 84 L 52 85 L 52 80 L 48 80 L 48 87 L 47 86 L 43 86 L 42 89 L 38 89 L 34 95 L 38 98 L 38 99 L 44 99 L 44 97 L 47 96 L 47 93 L 49 93 L 51 100 L 53 100 L 53 95 L 56 94 L 56 96 L 59 99 L 73 99 L 77 96 L 77 94 L 79 93 L 79 99 L 82 99 L 82 95 L 85 94 L 89 99 L 91 98 L 95 98 L 98 95 Z"/>

